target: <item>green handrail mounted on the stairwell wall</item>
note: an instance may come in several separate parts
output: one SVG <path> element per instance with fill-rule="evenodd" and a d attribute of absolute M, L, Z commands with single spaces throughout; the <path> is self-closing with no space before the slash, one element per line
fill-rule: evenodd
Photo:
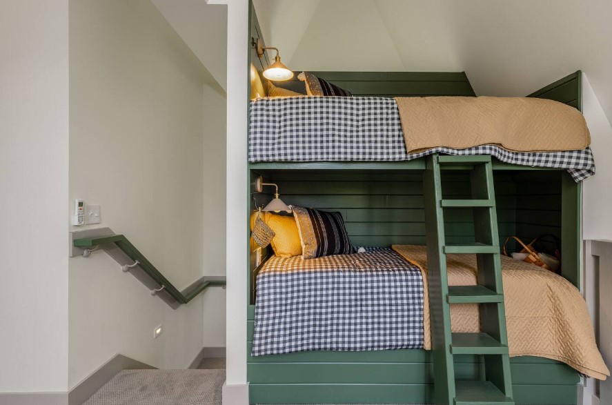
<path fill-rule="evenodd" d="M 186 293 L 181 293 L 175 286 L 162 275 L 155 266 L 124 235 L 110 235 L 101 237 L 91 237 L 83 239 L 75 239 L 73 244 L 77 248 L 92 248 L 104 244 L 115 244 L 117 247 L 126 253 L 130 259 L 138 261 L 138 266 L 159 286 L 164 286 L 164 290 L 180 304 L 187 304 L 192 299 L 197 297 L 199 293 L 211 286 L 225 286 L 225 280 L 204 280 L 199 284 L 188 288 Z"/>

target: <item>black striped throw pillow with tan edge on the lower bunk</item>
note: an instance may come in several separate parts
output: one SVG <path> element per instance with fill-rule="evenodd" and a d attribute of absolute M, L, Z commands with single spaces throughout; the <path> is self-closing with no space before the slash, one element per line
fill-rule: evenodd
<path fill-rule="evenodd" d="M 291 208 L 302 241 L 302 259 L 353 253 L 341 213 Z"/>

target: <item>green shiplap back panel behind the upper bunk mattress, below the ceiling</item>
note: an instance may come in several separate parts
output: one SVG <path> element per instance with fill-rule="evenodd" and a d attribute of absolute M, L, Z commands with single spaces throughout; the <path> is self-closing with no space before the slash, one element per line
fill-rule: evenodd
<path fill-rule="evenodd" d="M 275 81 L 275 86 L 306 94 L 303 81 Z M 475 96 L 464 72 L 313 72 L 362 97 Z"/>

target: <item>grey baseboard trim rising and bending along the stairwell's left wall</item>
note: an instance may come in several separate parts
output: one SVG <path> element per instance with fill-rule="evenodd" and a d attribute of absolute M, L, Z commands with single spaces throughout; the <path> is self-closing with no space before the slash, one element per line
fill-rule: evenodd
<path fill-rule="evenodd" d="M 68 393 L 68 405 L 81 405 L 94 395 L 104 384 L 115 377 L 119 371 L 155 368 L 124 355 L 116 355 L 100 366 L 89 377 L 83 379 Z M 42 403 L 41 403 L 42 404 Z M 55 405 L 55 404 L 54 404 Z"/>

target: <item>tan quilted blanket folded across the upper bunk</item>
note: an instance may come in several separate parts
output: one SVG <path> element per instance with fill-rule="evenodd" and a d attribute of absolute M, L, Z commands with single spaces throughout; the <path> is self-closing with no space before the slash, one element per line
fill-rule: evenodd
<path fill-rule="evenodd" d="M 591 144 L 580 111 L 526 97 L 396 97 L 408 153 L 495 144 L 515 152 L 579 150 Z"/>

